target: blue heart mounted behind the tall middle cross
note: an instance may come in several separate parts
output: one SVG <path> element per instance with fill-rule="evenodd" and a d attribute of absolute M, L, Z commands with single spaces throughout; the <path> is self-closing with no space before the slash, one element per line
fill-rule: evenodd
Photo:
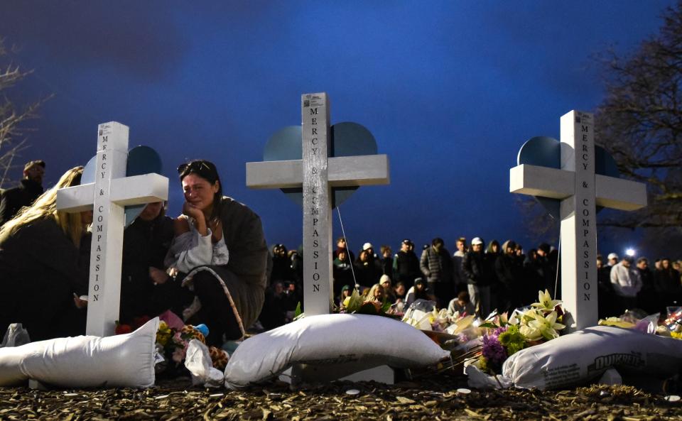
<path fill-rule="evenodd" d="M 364 126 L 357 123 L 343 122 L 331 126 L 331 144 L 328 155 L 357 156 L 376 155 L 377 141 Z M 301 145 L 301 126 L 288 126 L 272 135 L 263 151 L 263 160 L 297 160 L 303 156 Z M 350 197 L 357 186 L 332 188 L 332 208 L 337 207 Z M 280 189 L 294 203 L 303 206 L 303 189 Z"/>

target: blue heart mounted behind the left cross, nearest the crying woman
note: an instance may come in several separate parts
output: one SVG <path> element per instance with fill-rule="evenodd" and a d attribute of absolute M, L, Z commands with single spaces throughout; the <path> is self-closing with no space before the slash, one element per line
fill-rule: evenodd
<path fill-rule="evenodd" d="M 94 182 L 95 166 L 97 165 L 97 156 L 93 156 L 87 161 L 83 175 L 81 177 L 81 184 Z M 149 146 L 136 146 L 128 152 L 128 162 L 126 165 L 126 176 L 143 175 L 149 173 L 161 174 L 163 165 L 161 164 L 161 157 L 156 151 Z M 133 223 L 139 217 L 146 204 L 132 204 L 126 206 L 126 227 Z"/>

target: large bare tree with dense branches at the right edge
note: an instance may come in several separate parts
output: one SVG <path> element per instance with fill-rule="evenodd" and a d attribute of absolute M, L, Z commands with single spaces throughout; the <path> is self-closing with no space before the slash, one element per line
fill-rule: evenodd
<path fill-rule="evenodd" d="M 649 206 L 600 224 L 682 226 L 682 0 L 632 55 L 610 51 L 601 60 L 607 93 L 595 141 L 612 153 L 622 175 L 646 182 Z"/>

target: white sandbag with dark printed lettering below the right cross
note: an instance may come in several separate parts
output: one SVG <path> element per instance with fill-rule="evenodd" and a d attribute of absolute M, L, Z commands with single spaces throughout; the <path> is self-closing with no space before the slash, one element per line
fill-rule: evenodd
<path fill-rule="evenodd" d="M 520 388 L 565 388 L 597 380 L 609 368 L 666 378 L 682 366 L 682 341 L 637 330 L 595 326 L 522 349 L 502 375 Z"/>

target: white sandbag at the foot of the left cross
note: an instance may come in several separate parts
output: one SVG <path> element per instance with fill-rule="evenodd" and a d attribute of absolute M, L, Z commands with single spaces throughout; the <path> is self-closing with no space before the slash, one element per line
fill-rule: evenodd
<path fill-rule="evenodd" d="M 70 337 L 0 349 L 0 386 L 31 378 L 54 386 L 149 387 L 154 384 L 158 317 L 129 334 Z"/>

